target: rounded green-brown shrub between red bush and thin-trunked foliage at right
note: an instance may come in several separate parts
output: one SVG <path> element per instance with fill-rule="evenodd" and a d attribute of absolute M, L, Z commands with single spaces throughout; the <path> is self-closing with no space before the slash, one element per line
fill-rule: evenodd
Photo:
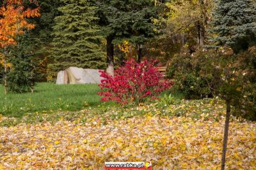
<path fill-rule="evenodd" d="M 188 99 L 212 97 L 211 74 L 202 73 L 202 66 L 208 55 L 201 51 L 193 55 L 180 54 L 170 60 L 168 78 L 175 80 L 174 88 L 184 93 Z"/>

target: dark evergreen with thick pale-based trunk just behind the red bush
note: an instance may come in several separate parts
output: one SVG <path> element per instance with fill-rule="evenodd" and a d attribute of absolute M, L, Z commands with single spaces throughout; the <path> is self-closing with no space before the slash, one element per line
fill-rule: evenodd
<path fill-rule="evenodd" d="M 107 72 L 111 75 L 114 75 L 114 45 L 122 41 L 122 38 L 129 37 L 129 16 L 125 15 L 129 11 L 128 3 L 122 0 L 98 1 L 99 25 L 107 41 Z"/>

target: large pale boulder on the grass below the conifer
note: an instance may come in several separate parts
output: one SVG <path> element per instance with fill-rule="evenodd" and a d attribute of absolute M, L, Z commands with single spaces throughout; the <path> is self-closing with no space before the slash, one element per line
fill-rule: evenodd
<path fill-rule="evenodd" d="M 56 84 L 100 84 L 101 79 L 99 70 L 70 67 L 58 73 Z"/>

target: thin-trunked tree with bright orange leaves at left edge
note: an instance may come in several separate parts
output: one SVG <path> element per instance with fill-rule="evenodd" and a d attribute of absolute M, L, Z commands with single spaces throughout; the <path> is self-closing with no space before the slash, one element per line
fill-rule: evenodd
<path fill-rule="evenodd" d="M 35 0 L 29 0 L 30 3 L 36 3 Z M 15 38 L 22 35 L 25 30 L 35 28 L 34 24 L 29 24 L 28 18 L 40 17 L 39 7 L 35 9 L 25 8 L 24 0 L 2 0 L 0 1 L 0 49 L 4 65 L 4 93 L 7 93 L 6 82 L 6 54 L 7 47 L 15 45 Z"/>

